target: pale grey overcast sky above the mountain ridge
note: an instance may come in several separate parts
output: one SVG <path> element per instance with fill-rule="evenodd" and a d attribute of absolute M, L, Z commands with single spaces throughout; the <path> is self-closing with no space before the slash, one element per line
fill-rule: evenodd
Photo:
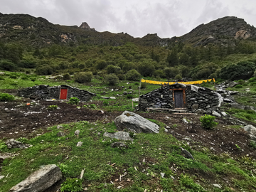
<path fill-rule="evenodd" d="M 157 33 L 182 36 L 201 23 L 223 16 L 244 18 L 256 26 L 255 0 L 0 0 L 2 14 L 30 14 L 50 23 L 134 37 Z"/>

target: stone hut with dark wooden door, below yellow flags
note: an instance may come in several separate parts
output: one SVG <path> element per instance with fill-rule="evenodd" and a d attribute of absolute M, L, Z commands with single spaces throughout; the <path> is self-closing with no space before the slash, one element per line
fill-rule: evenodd
<path fill-rule="evenodd" d="M 173 85 L 162 85 L 139 97 L 139 110 L 145 111 L 149 107 L 159 110 L 186 110 L 196 112 L 204 110 L 207 113 L 219 111 L 222 97 L 206 87 L 195 85 L 184 85 L 176 83 Z"/>

